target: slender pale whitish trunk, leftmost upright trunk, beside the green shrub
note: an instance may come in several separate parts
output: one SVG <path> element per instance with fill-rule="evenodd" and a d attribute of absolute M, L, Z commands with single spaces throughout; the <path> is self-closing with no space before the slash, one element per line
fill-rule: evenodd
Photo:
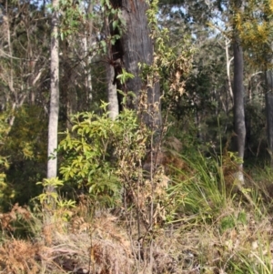
<path fill-rule="evenodd" d="M 57 132 L 59 117 L 59 42 L 58 42 L 58 0 L 52 0 L 52 30 L 51 30 L 51 66 L 50 66 L 50 110 L 48 124 L 47 148 L 47 178 L 56 178 L 57 175 Z M 54 189 L 47 189 L 53 191 Z"/>

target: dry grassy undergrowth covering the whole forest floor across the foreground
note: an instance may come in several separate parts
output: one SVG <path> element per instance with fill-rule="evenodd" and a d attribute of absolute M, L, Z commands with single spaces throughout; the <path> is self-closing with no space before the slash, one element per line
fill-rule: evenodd
<path fill-rule="evenodd" d="M 197 170 L 194 172 L 196 174 Z M 190 172 L 192 174 L 193 171 Z M 210 177 L 195 176 L 186 181 L 187 188 L 181 188 L 184 192 L 176 193 L 183 198 L 184 195 L 191 198 L 190 191 L 196 191 L 196 195 L 198 189 L 202 190 L 202 195 L 197 199 L 194 195 L 187 204 L 196 209 L 196 203 L 199 203 L 199 212 L 186 211 L 182 207 L 179 209 L 179 220 L 167 224 L 167 212 L 163 214 L 163 210 L 156 210 L 157 203 L 160 205 L 167 198 L 164 178 L 158 173 L 158 179 L 155 179 L 157 185 L 153 189 L 148 180 L 145 181 L 140 198 L 137 198 L 138 208 L 146 209 L 153 195 L 155 210 L 152 229 L 147 228 L 143 220 L 137 226 L 135 213 L 129 209 L 120 216 L 102 212 L 95 214 L 92 209 L 94 205 L 86 197 L 79 198 L 78 206 L 71 209 L 68 220 L 62 218 L 62 208 L 60 212 L 55 212 L 54 221 L 46 226 L 38 223 L 26 208 L 15 205 L 10 213 L 0 215 L 2 230 L 11 234 L 18 218 L 32 223 L 31 227 L 36 222 L 36 227 L 41 228 L 35 229 L 34 238 L 3 237 L 0 243 L 0 273 L 273 273 L 272 218 L 267 212 L 261 213 L 265 207 L 258 210 L 261 205 L 254 207 L 254 202 L 249 203 L 245 195 L 238 195 L 237 198 L 228 196 L 225 203 L 218 203 L 215 198 L 217 185 L 216 188 L 209 185 Z M 207 179 L 207 184 L 203 182 L 201 185 L 202 178 Z M 199 188 L 196 188 L 197 184 Z M 206 188 L 209 191 L 206 192 Z M 251 198 L 250 193 L 248 197 Z M 202 198 L 203 201 L 200 201 Z M 202 208 L 207 204 L 207 208 Z M 157 222 L 158 219 L 160 221 Z"/>

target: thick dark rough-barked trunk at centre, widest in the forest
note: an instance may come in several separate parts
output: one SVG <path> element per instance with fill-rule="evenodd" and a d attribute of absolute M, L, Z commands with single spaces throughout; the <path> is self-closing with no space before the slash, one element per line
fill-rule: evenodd
<path fill-rule="evenodd" d="M 136 95 L 134 100 L 127 102 L 127 107 L 138 109 L 141 103 L 144 103 L 142 107 L 147 106 L 147 109 L 144 109 L 145 123 L 148 127 L 159 127 L 161 124 L 159 84 L 148 85 L 150 83 L 141 79 L 138 66 L 153 63 L 154 46 L 147 22 L 147 2 L 145 0 L 112 0 L 111 3 L 122 11 L 126 22 L 126 31 L 121 36 L 120 48 L 117 48 L 117 51 L 126 72 L 134 75 L 134 78 L 128 79 L 123 86 L 125 93 L 132 91 Z M 147 96 L 146 102 L 141 98 L 142 91 Z"/>

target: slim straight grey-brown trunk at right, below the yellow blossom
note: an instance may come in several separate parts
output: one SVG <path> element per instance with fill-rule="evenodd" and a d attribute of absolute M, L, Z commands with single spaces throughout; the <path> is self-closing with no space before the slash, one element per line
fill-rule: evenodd
<path fill-rule="evenodd" d="M 235 6 L 240 9 L 240 1 L 235 0 Z M 234 129 L 236 134 L 236 144 L 238 151 L 238 179 L 243 180 L 242 168 L 245 154 L 246 142 L 246 124 L 245 124 L 245 106 L 244 106 L 244 58 L 241 41 L 236 25 L 234 26 L 233 53 L 234 53 Z"/>

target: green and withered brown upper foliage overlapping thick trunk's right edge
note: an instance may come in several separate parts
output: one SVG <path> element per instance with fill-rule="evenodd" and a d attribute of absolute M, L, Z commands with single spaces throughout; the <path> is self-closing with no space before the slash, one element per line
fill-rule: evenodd
<path fill-rule="evenodd" d="M 155 40 L 154 63 L 151 66 L 139 66 L 142 69 L 142 78 L 148 86 L 153 86 L 159 81 L 168 109 L 175 104 L 179 96 L 185 94 L 187 76 L 192 68 L 195 50 L 188 37 L 177 40 L 175 46 L 170 46 L 169 31 L 158 26 L 157 13 L 158 1 L 153 1 L 147 10 L 147 19 L 151 37 Z"/>

